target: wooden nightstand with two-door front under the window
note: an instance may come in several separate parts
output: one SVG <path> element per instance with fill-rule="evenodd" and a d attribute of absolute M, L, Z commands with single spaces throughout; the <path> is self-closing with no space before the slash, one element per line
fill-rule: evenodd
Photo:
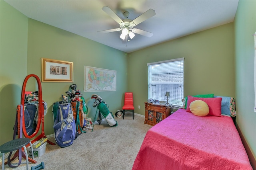
<path fill-rule="evenodd" d="M 145 102 L 145 121 L 148 125 L 156 125 L 171 115 L 171 104 L 159 105 Z"/>

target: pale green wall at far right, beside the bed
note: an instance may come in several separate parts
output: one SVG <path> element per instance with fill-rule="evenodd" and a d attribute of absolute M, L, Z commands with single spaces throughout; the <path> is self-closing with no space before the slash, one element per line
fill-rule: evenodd
<path fill-rule="evenodd" d="M 256 113 L 254 112 L 254 36 L 256 1 L 240 0 L 234 21 L 236 122 L 254 156 L 256 169 Z"/>

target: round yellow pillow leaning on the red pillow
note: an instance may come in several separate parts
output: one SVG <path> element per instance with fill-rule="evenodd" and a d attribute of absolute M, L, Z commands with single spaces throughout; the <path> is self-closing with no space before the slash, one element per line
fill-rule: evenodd
<path fill-rule="evenodd" d="M 209 113 L 209 106 L 202 100 L 195 100 L 189 105 L 191 113 L 197 116 L 206 116 Z"/>

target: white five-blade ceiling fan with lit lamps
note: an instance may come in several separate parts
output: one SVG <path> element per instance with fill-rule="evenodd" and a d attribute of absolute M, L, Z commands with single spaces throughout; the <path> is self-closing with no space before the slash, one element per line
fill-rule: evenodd
<path fill-rule="evenodd" d="M 134 20 L 129 20 L 128 16 L 129 16 L 129 12 L 124 12 L 123 15 L 125 17 L 124 20 L 122 20 L 121 18 L 119 18 L 108 6 L 104 6 L 102 8 L 102 10 L 104 12 L 106 12 L 110 17 L 112 17 L 117 23 L 119 23 L 120 28 L 114 28 L 114 29 L 107 29 L 104 31 L 98 31 L 100 33 L 110 33 L 110 32 L 115 32 L 115 31 L 121 31 L 122 30 L 122 34 L 120 35 L 121 39 L 128 39 L 128 36 L 130 37 L 130 39 L 132 39 L 135 34 L 140 34 L 140 35 L 144 35 L 146 37 L 152 37 L 153 33 L 150 33 L 148 31 L 144 31 L 141 29 L 137 29 L 134 28 L 136 25 L 138 25 L 139 23 L 147 20 L 148 18 L 151 18 L 152 16 L 156 15 L 156 12 L 152 9 L 149 9 L 148 11 L 144 12 L 143 14 L 141 14 L 140 16 L 138 16 L 137 18 L 135 18 Z M 128 40 L 129 41 L 129 40 Z"/>

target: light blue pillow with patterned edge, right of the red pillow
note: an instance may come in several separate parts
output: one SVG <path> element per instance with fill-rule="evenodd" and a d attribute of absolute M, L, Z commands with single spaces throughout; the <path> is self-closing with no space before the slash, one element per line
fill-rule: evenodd
<path fill-rule="evenodd" d="M 221 114 L 236 116 L 236 103 L 235 98 L 225 96 L 214 96 L 214 98 L 222 98 L 221 100 Z"/>

